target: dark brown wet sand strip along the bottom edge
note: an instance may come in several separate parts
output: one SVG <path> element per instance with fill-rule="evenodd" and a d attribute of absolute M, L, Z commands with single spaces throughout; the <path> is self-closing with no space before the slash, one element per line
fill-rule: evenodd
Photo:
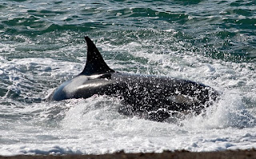
<path fill-rule="evenodd" d="M 218 152 L 201 152 L 192 153 L 189 151 L 164 151 L 163 153 L 110 153 L 102 155 L 18 155 L 13 157 L 1 157 L 0 159 L 160 159 L 160 158 L 175 158 L 175 159 L 226 159 L 226 158 L 256 158 L 256 149 L 250 150 L 226 150 Z"/>

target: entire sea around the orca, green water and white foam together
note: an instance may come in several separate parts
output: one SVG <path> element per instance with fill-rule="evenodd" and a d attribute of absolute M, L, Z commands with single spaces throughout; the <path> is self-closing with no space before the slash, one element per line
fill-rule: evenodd
<path fill-rule="evenodd" d="M 206 114 L 127 117 L 113 97 L 44 101 L 86 63 L 222 93 Z M 0 155 L 256 148 L 255 0 L 0 0 Z"/>

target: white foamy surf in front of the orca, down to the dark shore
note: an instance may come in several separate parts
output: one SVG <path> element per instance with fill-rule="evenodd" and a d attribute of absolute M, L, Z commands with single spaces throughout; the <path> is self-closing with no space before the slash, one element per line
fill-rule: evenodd
<path fill-rule="evenodd" d="M 169 149 L 216 151 L 256 146 L 251 117 L 239 97 L 227 97 L 204 116 L 177 123 L 159 123 L 117 112 L 120 103 L 109 97 L 41 103 L 18 110 L 30 114 L 2 129 L 1 155 L 162 152 Z M 227 104 L 229 103 L 229 104 Z M 50 107 L 49 107 L 50 106 Z M 55 121 L 56 124 L 46 124 Z M 4 142 L 2 142 L 4 143 Z"/>

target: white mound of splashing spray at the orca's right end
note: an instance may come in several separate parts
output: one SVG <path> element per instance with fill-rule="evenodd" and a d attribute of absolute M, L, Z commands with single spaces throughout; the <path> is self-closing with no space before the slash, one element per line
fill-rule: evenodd
<path fill-rule="evenodd" d="M 206 108 L 206 112 L 187 118 L 182 123 L 193 129 L 242 129 L 256 124 L 255 117 L 246 110 L 242 97 L 230 90 L 223 92 L 219 101 Z"/>

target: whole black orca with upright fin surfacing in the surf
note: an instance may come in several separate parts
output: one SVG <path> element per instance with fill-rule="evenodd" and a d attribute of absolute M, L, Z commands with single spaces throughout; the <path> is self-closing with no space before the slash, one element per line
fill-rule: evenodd
<path fill-rule="evenodd" d="M 86 66 L 81 74 L 62 83 L 48 97 L 50 101 L 88 98 L 95 94 L 118 97 L 120 113 L 164 121 L 174 113 L 202 113 L 219 93 L 202 83 L 157 75 L 123 74 L 110 69 L 94 42 L 87 36 Z"/>

